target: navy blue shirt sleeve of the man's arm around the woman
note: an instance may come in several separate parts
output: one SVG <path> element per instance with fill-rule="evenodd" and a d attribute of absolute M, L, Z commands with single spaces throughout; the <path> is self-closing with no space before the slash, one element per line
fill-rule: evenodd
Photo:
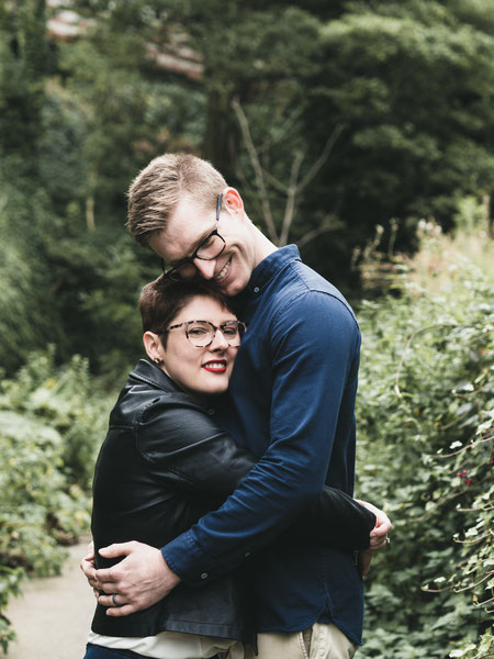
<path fill-rule="evenodd" d="M 276 314 L 267 332 L 270 445 L 217 511 L 162 548 L 169 567 L 189 584 L 235 568 L 321 493 L 341 401 L 345 394 L 355 400 L 360 333 L 339 300 L 306 291 Z"/>

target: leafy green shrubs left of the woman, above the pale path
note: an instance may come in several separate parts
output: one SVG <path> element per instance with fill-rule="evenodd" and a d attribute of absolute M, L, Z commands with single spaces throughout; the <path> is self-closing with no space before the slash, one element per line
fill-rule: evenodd
<path fill-rule="evenodd" d="M 15 379 L 2 382 L 0 611 L 23 576 L 58 573 L 64 545 L 89 528 L 94 451 L 108 416 L 92 387 L 86 360 L 57 369 L 53 350 L 29 355 Z M 0 646 L 12 638 L 0 614 Z"/>

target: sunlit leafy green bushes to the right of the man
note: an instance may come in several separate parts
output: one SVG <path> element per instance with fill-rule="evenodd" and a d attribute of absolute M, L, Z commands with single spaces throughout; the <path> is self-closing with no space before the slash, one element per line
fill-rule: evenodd
<path fill-rule="evenodd" d="M 494 254 L 476 215 L 470 246 L 490 266 L 461 254 L 464 231 L 452 241 L 424 224 L 393 292 L 360 310 L 359 492 L 393 521 L 368 582 L 364 657 L 446 657 L 486 643 L 478 639 L 494 593 Z"/>

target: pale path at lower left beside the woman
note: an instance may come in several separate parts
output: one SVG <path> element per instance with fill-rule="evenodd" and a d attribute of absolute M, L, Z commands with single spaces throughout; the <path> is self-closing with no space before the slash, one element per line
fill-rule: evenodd
<path fill-rule="evenodd" d="M 7 615 L 18 640 L 8 659 L 81 659 L 94 610 L 94 596 L 79 569 L 87 543 L 70 547 L 60 577 L 24 581 Z M 3 657 L 0 649 L 0 658 Z"/>

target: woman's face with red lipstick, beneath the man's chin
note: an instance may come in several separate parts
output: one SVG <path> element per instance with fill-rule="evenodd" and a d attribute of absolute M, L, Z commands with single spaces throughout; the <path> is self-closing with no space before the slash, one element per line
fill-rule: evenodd
<path fill-rule="evenodd" d="M 197 297 L 190 300 L 169 326 L 189 321 L 209 321 L 220 326 L 236 320 L 234 313 L 224 309 L 213 298 Z M 162 345 L 159 348 L 162 370 L 184 391 L 217 394 L 228 388 L 238 348 L 231 347 L 220 330 L 209 346 L 198 348 L 188 339 L 186 327 L 182 325 L 170 330 L 166 348 Z"/>

